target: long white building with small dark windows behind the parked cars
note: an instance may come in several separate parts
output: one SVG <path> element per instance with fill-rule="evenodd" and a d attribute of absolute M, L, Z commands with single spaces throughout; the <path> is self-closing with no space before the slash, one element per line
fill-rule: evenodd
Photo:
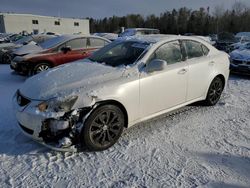
<path fill-rule="evenodd" d="M 43 32 L 89 34 L 89 20 L 0 13 L 0 33 L 20 33 L 23 31 L 34 34 Z"/>

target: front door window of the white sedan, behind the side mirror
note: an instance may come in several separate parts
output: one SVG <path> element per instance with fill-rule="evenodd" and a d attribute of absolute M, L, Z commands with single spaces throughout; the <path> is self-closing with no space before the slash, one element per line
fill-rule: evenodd
<path fill-rule="evenodd" d="M 169 42 L 159 47 L 149 58 L 149 61 L 153 59 L 165 60 L 168 65 L 178 63 L 182 61 L 181 47 L 178 41 Z"/>

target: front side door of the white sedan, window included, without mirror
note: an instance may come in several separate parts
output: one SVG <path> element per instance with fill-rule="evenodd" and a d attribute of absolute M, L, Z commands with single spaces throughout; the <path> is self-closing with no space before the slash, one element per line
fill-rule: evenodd
<path fill-rule="evenodd" d="M 141 118 L 172 108 L 186 102 L 188 65 L 178 41 L 159 47 L 149 58 L 167 62 L 164 70 L 140 74 Z"/>

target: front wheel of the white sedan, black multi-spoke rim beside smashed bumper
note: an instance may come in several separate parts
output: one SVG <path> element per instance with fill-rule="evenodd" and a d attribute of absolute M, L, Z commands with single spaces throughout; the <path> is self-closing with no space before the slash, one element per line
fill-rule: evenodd
<path fill-rule="evenodd" d="M 125 116 L 115 105 L 103 105 L 95 109 L 81 132 L 81 144 L 90 151 L 102 151 L 113 146 L 120 138 Z"/>

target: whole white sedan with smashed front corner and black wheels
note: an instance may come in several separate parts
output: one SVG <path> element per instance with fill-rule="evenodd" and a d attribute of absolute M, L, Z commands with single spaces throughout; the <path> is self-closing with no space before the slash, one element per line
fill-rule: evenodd
<path fill-rule="evenodd" d="M 196 101 L 215 105 L 228 75 L 228 55 L 204 40 L 135 37 L 27 79 L 13 104 L 34 140 L 59 151 L 100 151 L 136 123 Z"/>

